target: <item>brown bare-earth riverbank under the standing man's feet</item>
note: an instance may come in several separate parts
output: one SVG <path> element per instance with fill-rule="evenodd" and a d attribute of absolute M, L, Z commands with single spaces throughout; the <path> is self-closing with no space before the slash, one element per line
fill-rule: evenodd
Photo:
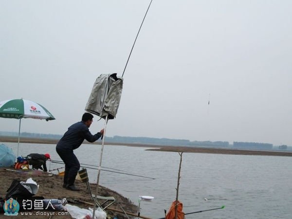
<path fill-rule="evenodd" d="M 53 175 L 50 173 L 46 173 L 43 171 L 38 170 L 29 170 L 29 171 L 22 171 L 19 169 L 13 169 L 8 167 L 1 167 L 0 168 L 0 197 L 5 199 L 6 191 L 10 187 L 12 181 L 14 179 L 18 181 L 26 182 L 28 178 L 32 178 L 37 184 L 39 184 L 39 189 L 36 194 L 37 197 L 43 197 L 44 199 L 63 199 L 66 198 L 68 203 L 71 205 L 76 205 L 80 208 L 89 207 L 92 208 L 93 201 L 89 195 L 89 192 L 86 187 L 86 183 L 82 183 L 80 180 L 76 180 L 76 186 L 81 189 L 81 191 L 71 191 L 67 190 L 62 187 L 63 178 L 62 176 Z M 92 192 L 95 192 L 95 184 L 91 184 Z M 126 219 L 127 217 L 123 213 L 119 213 L 114 211 L 113 209 L 117 209 L 118 211 L 122 212 L 122 208 L 132 214 L 137 213 L 137 206 L 131 203 L 127 198 L 123 197 L 121 194 L 110 190 L 109 188 L 99 186 L 98 190 L 99 196 L 113 196 L 115 197 L 116 201 L 113 203 L 107 210 L 108 218 L 113 218 L 113 216 L 117 216 L 119 219 Z M 92 204 L 91 204 L 92 203 Z M 19 203 L 20 204 L 20 203 Z M 121 208 L 121 206 L 122 208 Z M 29 211 L 26 211 L 29 212 Z M 42 210 L 42 212 L 44 212 Z M 3 213 L 0 213 L 3 215 Z M 1 216 L 0 216 L 1 218 Z M 46 216 L 21 216 L 18 214 L 18 219 L 48 219 L 49 217 Z M 72 219 L 71 216 L 58 216 L 55 214 L 51 219 Z"/>

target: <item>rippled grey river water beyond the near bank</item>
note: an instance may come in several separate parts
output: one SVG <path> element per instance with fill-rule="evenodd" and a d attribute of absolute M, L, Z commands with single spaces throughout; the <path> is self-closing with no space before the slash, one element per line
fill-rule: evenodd
<path fill-rule="evenodd" d="M 4 144 L 16 153 L 16 143 Z M 139 196 L 153 196 L 152 201 L 141 201 L 140 212 L 158 219 L 176 198 L 180 156 L 146 149 L 104 146 L 102 166 L 155 180 L 101 171 L 100 184 L 136 205 Z M 101 146 L 85 144 L 74 151 L 81 164 L 92 165 L 99 164 L 100 152 Z M 50 153 L 53 160 L 60 160 L 55 145 L 21 143 L 19 155 L 29 153 Z M 47 166 L 54 169 L 62 165 L 47 162 Z M 190 214 L 186 219 L 291 219 L 291 170 L 291 157 L 183 153 L 179 200 L 184 213 L 225 206 Z M 91 183 L 96 182 L 97 170 L 88 172 Z"/>

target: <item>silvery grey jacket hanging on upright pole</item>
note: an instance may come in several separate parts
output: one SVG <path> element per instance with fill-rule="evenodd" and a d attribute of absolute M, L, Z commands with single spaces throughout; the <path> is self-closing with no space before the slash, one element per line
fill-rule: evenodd
<path fill-rule="evenodd" d="M 101 74 L 94 82 L 85 110 L 102 118 L 114 119 L 119 108 L 123 78 L 116 73 Z"/>

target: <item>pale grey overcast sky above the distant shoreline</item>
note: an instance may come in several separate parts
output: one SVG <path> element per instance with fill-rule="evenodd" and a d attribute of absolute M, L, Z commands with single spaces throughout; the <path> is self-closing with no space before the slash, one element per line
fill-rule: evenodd
<path fill-rule="evenodd" d="M 95 79 L 122 75 L 149 2 L 0 0 L 0 101 L 33 100 L 56 118 L 21 131 L 63 134 L 81 120 Z M 291 0 L 153 0 L 107 135 L 292 146 L 291 12 Z M 0 118 L 0 130 L 18 120 Z"/>

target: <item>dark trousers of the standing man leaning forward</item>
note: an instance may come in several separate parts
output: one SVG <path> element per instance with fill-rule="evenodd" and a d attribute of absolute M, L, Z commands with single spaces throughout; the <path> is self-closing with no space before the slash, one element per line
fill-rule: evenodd
<path fill-rule="evenodd" d="M 65 164 L 64 184 L 73 185 L 80 168 L 79 161 L 73 150 L 61 150 L 56 148 L 56 151 Z"/>

